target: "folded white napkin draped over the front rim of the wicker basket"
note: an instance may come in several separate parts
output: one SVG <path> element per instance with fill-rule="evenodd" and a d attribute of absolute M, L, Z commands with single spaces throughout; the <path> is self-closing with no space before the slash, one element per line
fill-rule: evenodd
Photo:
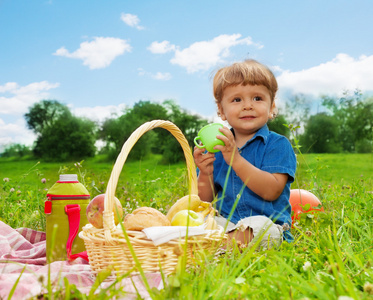
<path fill-rule="evenodd" d="M 200 226 L 189 226 L 188 236 L 201 235 L 209 231 L 205 230 L 206 224 Z M 158 246 L 168 241 L 181 238 L 186 236 L 187 227 L 186 226 L 153 226 L 142 230 L 148 239 L 151 239 L 154 245 Z"/>

